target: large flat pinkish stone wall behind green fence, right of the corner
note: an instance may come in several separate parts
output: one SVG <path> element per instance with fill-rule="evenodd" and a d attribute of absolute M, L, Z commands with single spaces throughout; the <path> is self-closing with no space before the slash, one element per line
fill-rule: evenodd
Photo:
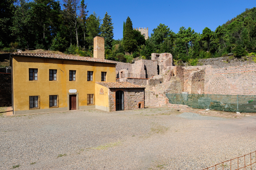
<path fill-rule="evenodd" d="M 256 64 L 205 70 L 204 93 L 256 95 Z"/>

